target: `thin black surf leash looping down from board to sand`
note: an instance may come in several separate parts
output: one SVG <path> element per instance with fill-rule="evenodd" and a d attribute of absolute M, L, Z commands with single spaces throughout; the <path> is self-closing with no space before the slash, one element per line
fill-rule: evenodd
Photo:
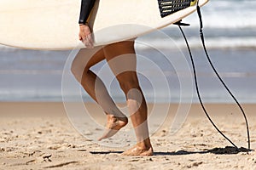
<path fill-rule="evenodd" d="M 238 107 L 239 107 L 239 109 L 240 109 L 240 111 L 241 111 L 241 113 L 242 113 L 242 115 L 243 115 L 243 117 L 244 117 L 244 119 L 245 119 L 246 127 L 247 127 L 247 144 L 248 144 L 248 146 L 247 146 L 247 147 L 248 147 L 248 148 L 247 148 L 247 151 L 249 151 L 249 150 L 251 150 L 251 149 L 250 149 L 250 148 L 251 148 L 251 143 L 250 143 L 250 133 L 249 133 L 249 126 L 248 126 L 248 122 L 247 122 L 247 116 L 246 116 L 246 114 L 245 114 L 245 111 L 242 109 L 240 103 L 239 103 L 238 100 L 236 99 L 235 95 L 231 93 L 230 89 L 227 87 L 227 85 L 225 84 L 225 82 L 223 81 L 223 79 L 219 76 L 218 71 L 216 70 L 216 68 L 215 68 L 214 65 L 212 64 L 212 60 L 210 59 L 210 56 L 209 56 L 209 54 L 207 53 L 207 48 L 206 48 L 206 44 L 205 44 L 205 38 L 204 38 L 204 34 L 203 34 L 203 22 L 202 22 L 202 17 L 201 17 L 201 8 L 200 8 L 200 6 L 199 6 L 199 1 L 197 1 L 197 3 L 196 3 L 196 10 L 197 10 L 197 14 L 198 14 L 198 17 L 199 17 L 199 20 L 200 20 L 200 37 L 201 37 L 201 43 L 202 43 L 202 46 L 203 46 L 203 48 L 204 48 L 205 54 L 206 54 L 206 56 L 207 56 L 207 60 L 208 60 L 209 64 L 211 65 L 212 70 L 214 71 L 215 75 L 218 77 L 218 80 L 222 83 L 222 85 L 223 85 L 224 88 L 227 90 L 227 92 L 230 94 L 230 96 L 232 97 L 232 99 L 235 100 L 236 105 L 238 105 Z M 189 26 L 189 25 L 183 24 L 183 23 L 181 23 L 181 21 L 178 21 L 178 22 L 175 23 L 175 24 L 179 27 L 179 29 L 180 29 L 180 31 L 181 31 L 181 33 L 182 33 L 182 35 L 183 35 L 183 38 L 184 38 L 184 40 L 185 40 L 185 42 L 186 42 L 188 51 L 189 51 L 189 56 L 190 56 L 190 60 L 191 60 L 191 64 L 192 64 L 192 68 L 193 68 L 193 72 L 194 72 L 196 94 L 197 94 L 198 99 L 199 99 L 199 101 L 200 101 L 202 110 L 203 110 L 204 113 L 206 114 L 208 120 L 212 123 L 212 126 L 215 127 L 215 129 L 218 131 L 218 133 L 220 133 L 220 134 L 224 137 L 224 139 L 227 139 L 227 140 L 230 142 L 230 144 L 232 144 L 232 145 L 236 148 L 236 150 L 238 150 L 238 151 L 244 151 L 244 148 L 238 148 L 238 147 L 236 146 L 236 144 L 234 144 L 226 135 L 224 135 L 224 133 L 222 133 L 222 132 L 218 129 L 218 127 L 216 126 L 216 124 L 212 121 L 211 116 L 209 116 L 209 114 L 208 114 L 208 112 L 207 112 L 207 109 L 206 109 L 206 107 L 204 106 L 203 101 L 202 101 L 202 99 L 201 99 L 201 93 L 200 93 L 200 90 L 199 90 L 199 87 L 198 87 L 198 80 L 197 80 L 197 74 L 196 74 L 196 69 L 195 69 L 195 61 L 194 61 L 194 59 L 193 59 L 193 55 L 192 55 L 192 53 L 191 53 L 191 49 L 190 49 L 190 47 L 189 47 L 189 42 L 188 42 L 188 40 L 187 40 L 187 37 L 185 36 L 185 34 L 184 34 L 184 32 L 183 32 L 183 29 L 182 29 L 182 27 L 181 27 L 181 26 Z"/>

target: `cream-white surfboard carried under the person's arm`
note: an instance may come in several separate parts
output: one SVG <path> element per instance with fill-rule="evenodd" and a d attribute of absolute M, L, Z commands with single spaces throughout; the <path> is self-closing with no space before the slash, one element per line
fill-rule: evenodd
<path fill-rule="evenodd" d="M 96 1 L 90 15 L 95 46 L 139 37 L 195 12 L 196 0 L 176 2 L 192 6 L 162 17 L 159 3 L 172 7 L 173 0 Z M 207 2 L 199 0 L 200 6 Z M 30 49 L 84 48 L 78 37 L 80 4 L 81 0 L 1 0 L 0 43 Z"/>

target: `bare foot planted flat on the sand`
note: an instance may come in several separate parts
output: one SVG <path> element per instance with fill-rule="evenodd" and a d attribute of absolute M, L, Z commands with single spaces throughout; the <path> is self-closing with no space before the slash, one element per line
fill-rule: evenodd
<path fill-rule="evenodd" d="M 131 149 L 126 150 L 122 153 L 123 156 L 153 156 L 153 148 L 150 145 L 149 147 L 140 147 L 138 144 L 133 146 Z"/>

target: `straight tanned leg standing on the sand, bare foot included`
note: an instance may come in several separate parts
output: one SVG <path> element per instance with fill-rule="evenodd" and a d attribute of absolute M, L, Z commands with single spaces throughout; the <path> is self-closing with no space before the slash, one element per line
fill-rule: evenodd
<path fill-rule="evenodd" d="M 147 122 L 147 105 L 137 79 L 134 42 L 117 42 L 104 47 L 104 54 L 113 74 L 125 93 L 137 144 L 126 150 L 126 156 L 152 156 Z"/>

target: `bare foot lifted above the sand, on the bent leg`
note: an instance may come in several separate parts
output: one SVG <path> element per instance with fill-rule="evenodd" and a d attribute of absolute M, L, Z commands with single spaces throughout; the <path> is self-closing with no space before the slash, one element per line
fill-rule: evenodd
<path fill-rule="evenodd" d="M 125 127 L 128 123 L 128 118 L 125 117 L 116 117 L 113 115 L 108 115 L 108 124 L 107 124 L 107 131 L 102 135 L 99 141 L 102 139 L 108 139 L 112 137 L 115 133 L 118 133 L 120 128 Z"/>

